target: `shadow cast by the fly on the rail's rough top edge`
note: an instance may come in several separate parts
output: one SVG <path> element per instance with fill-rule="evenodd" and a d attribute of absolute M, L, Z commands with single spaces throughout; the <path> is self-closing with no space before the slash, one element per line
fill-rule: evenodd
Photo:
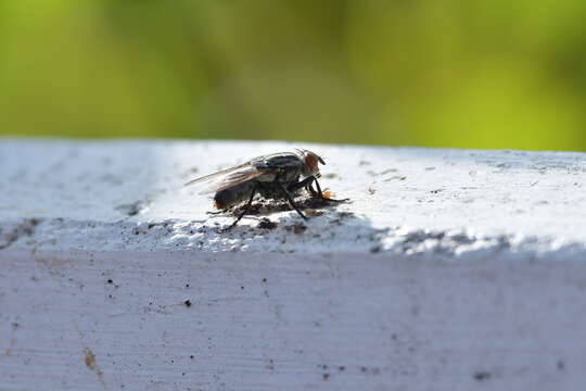
<path fill-rule="evenodd" d="M 296 202 L 304 207 L 308 220 L 300 218 L 285 202 L 258 199 L 247 209 L 242 219 L 244 224 L 229 230 L 226 229 L 229 222 L 227 225 L 208 226 L 208 237 L 201 245 L 220 251 L 240 251 L 251 245 L 251 249 L 258 250 L 265 248 L 264 243 L 278 252 L 300 251 L 300 245 L 311 251 L 378 253 L 383 250 L 387 231 L 373 227 L 368 217 L 341 211 L 335 203 L 322 204 L 319 200 L 304 198 L 296 199 Z M 244 207 L 240 205 L 217 216 L 233 217 Z"/>

